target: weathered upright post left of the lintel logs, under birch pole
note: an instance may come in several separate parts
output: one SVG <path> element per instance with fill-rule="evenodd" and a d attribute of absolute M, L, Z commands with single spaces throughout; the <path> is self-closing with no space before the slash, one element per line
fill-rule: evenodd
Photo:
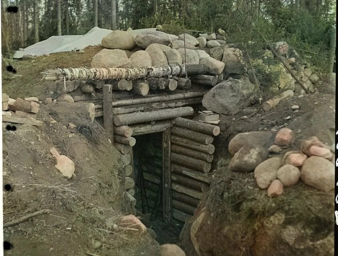
<path fill-rule="evenodd" d="M 112 85 L 103 85 L 103 127 L 106 130 L 109 139 L 114 145 L 114 129 L 113 129 L 113 107 L 112 107 Z"/>

